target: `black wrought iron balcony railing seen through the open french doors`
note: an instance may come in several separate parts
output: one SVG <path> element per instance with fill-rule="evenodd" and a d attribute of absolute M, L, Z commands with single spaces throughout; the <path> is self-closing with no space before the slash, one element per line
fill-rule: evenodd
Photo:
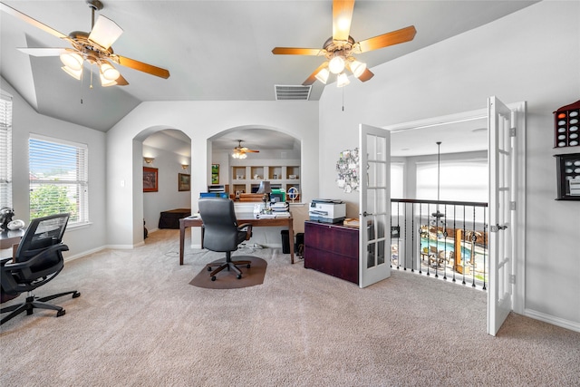
<path fill-rule="evenodd" d="M 488 286 L 488 203 L 391 199 L 391 266 L 482 290 Z"/>

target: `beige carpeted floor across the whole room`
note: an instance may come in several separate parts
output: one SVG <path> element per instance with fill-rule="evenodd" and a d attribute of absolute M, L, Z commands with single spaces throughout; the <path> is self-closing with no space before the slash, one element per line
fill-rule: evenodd
<path fill-rule="evenodd" d="M 67 263 L 38 295 L 81 297 L 2 325 L 0 385 L 579 385 L 580 334 L 510 314 L 489 336 L 469 286 L 394 270 L 359 289 L 263 249 L 234 255 L 267 262 L 262 285 L 214 290 L 189 281 L 218 253 L 178 251 L 160 230 Z"/>

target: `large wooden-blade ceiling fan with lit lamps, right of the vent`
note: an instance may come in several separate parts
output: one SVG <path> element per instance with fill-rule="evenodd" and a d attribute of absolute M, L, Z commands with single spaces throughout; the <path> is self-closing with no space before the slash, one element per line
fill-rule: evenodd
<path fill-rule="evenodd" d="M 316 80 L 326 83 L 330 73 L 337 75 L 336 85 L 343 87 L 350 83 L 344 69 L 348 69 L 362 82 L 366 82 L 374 75 L 366 68 L 366 63 L 357 61 L 353 53 L 367 53 L 389 45 L 410 42 L 417 34 L 413 25 L 381 34 L 359 42 L 350 35 L 353 19 L 354 0 L 333 0 L 333 36 L 323 44 L 323 48 L 295 48 L 275 47 L 272 53 L 286 55 L 315 55 L 325 56 L 327 61 L 322 63 L 314 73 L 304 81 L 304 86 L 313 84 Z"/>

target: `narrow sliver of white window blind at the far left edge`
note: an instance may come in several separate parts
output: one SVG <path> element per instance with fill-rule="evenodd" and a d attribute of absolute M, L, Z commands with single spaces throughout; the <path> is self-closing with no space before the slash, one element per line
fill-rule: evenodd
<path fill-rule="evenodd" d="M 12 97 L 0 94 L 0 208 L 12 208 Z"/>

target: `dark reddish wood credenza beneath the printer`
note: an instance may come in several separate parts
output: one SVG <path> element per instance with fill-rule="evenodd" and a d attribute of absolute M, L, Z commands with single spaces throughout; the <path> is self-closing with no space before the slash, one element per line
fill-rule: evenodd
<path fill-rule="evenodd" d="M 359 283 L 359 229 L 304 222 L 304 267 Z"/>

